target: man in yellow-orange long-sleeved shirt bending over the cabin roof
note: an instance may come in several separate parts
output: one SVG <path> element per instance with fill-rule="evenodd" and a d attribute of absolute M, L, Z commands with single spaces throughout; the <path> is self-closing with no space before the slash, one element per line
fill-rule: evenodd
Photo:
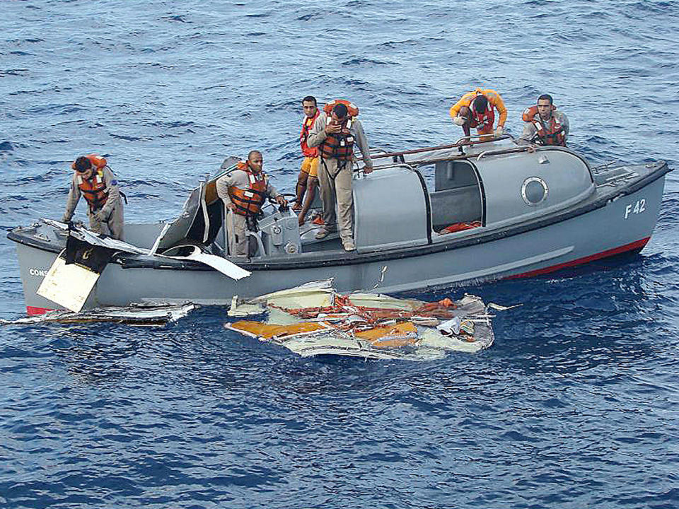
<path fill-rule="evenodd" d="M 497 128 L 493 130 L 495 122 L 495 113 L 493 109 L 499 113 L 499 120 L 497 121 Z M 470 136 L 470 128 L 476 127 L 477 134 L 495 134 L 500 136 L 504 132 L 504 124 L 507 121 L 507 109 L 504 107 L 504 101 L 499 93 L 495 90 L 476 88 L 473 92 L 465 93 L 465 95 L 458 100 L 451 107 L 451 117 L 455 125 L 462 127 L 465 131 L 465 136 Z M 484 136 L 482 141 L 492 139 L 490 136 Z"/>

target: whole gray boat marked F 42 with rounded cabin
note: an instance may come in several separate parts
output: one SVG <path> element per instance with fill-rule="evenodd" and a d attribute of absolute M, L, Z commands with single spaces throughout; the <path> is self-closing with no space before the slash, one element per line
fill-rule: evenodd
<path fill-rule="evenodd" d="M 344 252 L 337 234 L 316 240 L 320 226 L 299 227 L 293 211 L 271 206 L 253 238 L 255 256 L 237 259 L 225 252 L 215 189 L 236 162 L 227 159 L 193 189 L 175 221 L 127 223 L 125 242 L 46 220 L 11 230 L 28 312 L 225 305 L 234 295 L 253 298 L 328 278 L 341 292 L 394 293 L 546 274 L 642 250 L 670 171 L 663 161 L 592 168 L 569 148 L 521 146 L 511 136 L 378 152 L 374 172 L 354 173 L 355 252 Z M 60 253 L 62 266 L 75 262 L 95 276 L 64 267 L 54 273 Z M 51 293 L 43 281 L 50 272 Z M 75 305 L 59 298 L 69 292 L 78 293 Z"/>

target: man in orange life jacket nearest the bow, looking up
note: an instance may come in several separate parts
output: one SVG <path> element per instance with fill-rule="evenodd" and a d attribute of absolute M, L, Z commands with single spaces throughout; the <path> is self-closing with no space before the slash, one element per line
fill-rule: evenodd
<path fill-rule="evenodd" d="M 538 104 L 523 110 L 521 118 L 524 124 L 519 143 L 566 146 L 568 117 L 557 110 L 551 95 L 540 95 Z"/>

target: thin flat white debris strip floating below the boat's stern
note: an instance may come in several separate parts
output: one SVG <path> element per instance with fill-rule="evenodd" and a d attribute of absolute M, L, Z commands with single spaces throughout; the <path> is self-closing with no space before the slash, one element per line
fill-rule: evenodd
<path fill-rule="evenodd" d="M 0 320 L 0 324 L 114 322 L 137 327 L 161 327 L 168 322 L 175 322 L 185 317 L 196 308 L 197 305 L 193 303 L 133 304 L 126 308 L 98 308 L 87 312 L 50 311 L 45 315 L 35 315 L 18 320 Z"/>

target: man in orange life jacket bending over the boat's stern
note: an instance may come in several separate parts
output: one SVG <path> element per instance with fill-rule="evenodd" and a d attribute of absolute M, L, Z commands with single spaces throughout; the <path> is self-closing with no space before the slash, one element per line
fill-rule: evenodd
<path fill-rule="evenodd" d="M 90 230 L 122 240 L 124 218 L 120 189 L 105 158 L 96 154 L 81 156 L 71 168 L 74 169 L 74 174 L 62 221 L 71 221 L 82 194 L 88 205 Z"/>

